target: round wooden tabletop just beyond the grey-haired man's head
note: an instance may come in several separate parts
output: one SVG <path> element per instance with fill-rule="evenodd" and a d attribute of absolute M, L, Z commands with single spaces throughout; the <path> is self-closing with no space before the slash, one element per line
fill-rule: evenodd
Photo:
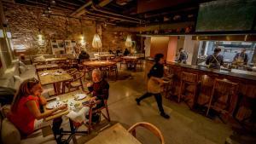
<path fill-rule="evenodd" d="M 115 65 L 115 61 L 109 61 L 109 60 L 95 60 L 95 61 L 84 61 L 84 66 L 89 66 L 93 68 L 101 68 L 105 66 L 113 66 Z"/>

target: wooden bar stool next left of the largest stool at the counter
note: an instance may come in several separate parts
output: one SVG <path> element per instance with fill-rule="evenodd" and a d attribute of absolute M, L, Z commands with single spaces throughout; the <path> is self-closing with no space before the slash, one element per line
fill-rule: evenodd
<path fill-rule="evenodd" d="M 195 106 L 199 84 L 200 83 L 198 81 L 197 74 L 182 72 L 177 101 L 180 102 L 181 99 L 184 99 L 184 101 L 189 106 L 189 108 L 192 109 Z M 192 93 L 191 95 L 192 97 L 189 95 L 186 95 L 186 93 L 189 93 L 189 95 L 191 95 Z"/>

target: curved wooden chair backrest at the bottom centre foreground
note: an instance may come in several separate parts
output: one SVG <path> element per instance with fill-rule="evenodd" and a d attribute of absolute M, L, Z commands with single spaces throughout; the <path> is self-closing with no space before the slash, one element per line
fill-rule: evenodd
<path fill-rule="evenodd" d="M 149 123 L 146 123 L 146 122 L 139 122 L 137 124 L 132 125 L 131 128 L 129 128 L 128 131 L 134 137 L 136 137 L 137 127 L 143 127 L 145 129 L 151 131 L 154 135 L 156 135 L 160 139 L 161 144 L 165 144 L 164 136 L 162 135 L 161 131 L 156 126 L 154 126 L 153 124 L 149 124 Z"/>

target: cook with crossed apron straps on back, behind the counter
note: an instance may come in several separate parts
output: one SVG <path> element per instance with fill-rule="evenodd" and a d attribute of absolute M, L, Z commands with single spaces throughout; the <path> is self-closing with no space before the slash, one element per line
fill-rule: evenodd
<path fill-rule="evenodd" d="M 209 68 L 220 70 L 220 66 L 223 66 L 224 58 L 223 55 L 219 54 L 220 52 L 220 48 L 215 48 L 214 53 L 212 55 L 207 56 L 206 64 L 208 65 Z"/>

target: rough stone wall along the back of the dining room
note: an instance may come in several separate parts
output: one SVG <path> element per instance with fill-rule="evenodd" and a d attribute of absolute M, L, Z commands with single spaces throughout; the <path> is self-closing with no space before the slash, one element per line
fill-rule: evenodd
<path fill-rule="evenodd" d="M 81 34 L 88 51 L 97 51 L 91 47 L 91 42 L 98 24 L 94 21 L 67 18 L 64 16 L 42 16 L 44 9 L 19 4 L 3 4 L 3 11 L 8 20 L 9 31 L 12 33 L 14 49 L 26 49 L 26 55 L 51 54 L 51 40 L 67 39 L 80 41 Z M 68 15 L 71 11 L 52 9 L 53 14 Z M 125 49 L 125 39 L 129 32 L 115 31 L 112 26 L 102 27 L 102 50 L 117 48 Z M 43 34 L 44 45 L 38 44 L 39 29 Z M 119 30 L 122 30 L 120 28 Z M 132 36 L 133 38 L 137 38 Z M 136 40 L 136 39 L 134 39 Z M 139 41 L 138 41 L 139 42 Z M 139 44 L 137 44 L 139 45 Z"/>

